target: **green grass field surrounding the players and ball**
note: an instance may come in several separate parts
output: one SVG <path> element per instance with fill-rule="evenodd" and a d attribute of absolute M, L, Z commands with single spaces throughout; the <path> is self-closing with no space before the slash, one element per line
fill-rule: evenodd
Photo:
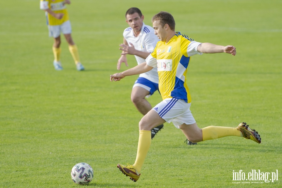
<path fill-rule="evenodd" d="M 52 65 L 39 0 L 0 1 L 0 187 L 80 187 L 71 168 L 86 162 L 94 179 L 86 187 L 281 187 L 280 0 L 72 0 L 68 6 L 81 62 L 76 71 L 62 38 L 63 71 Z M 237 55 L 193 56 L 187 80 L 199 127 L 245 121 L 262 143 L 225 137 L 184 143 L 172 124 L 152 140 L 142 175 L 129 180 L 116 165 L 133 164 L 142 115 L 131 100 L 137 76 L 110 82 L 116 73 L 124 14 L 138 7 L 151 25 L 159 11 L 172 13 L 176 31 L 199 42 L 234 45 Z M 130 66 L 136 65 L 128 56 Z M 122 71 L 128 67 L 122 66 Z M 148 99 L 154 106 L 159 94 Z M 233 171 L 277 172 L 278 180 L 234 181 Z M 271 179 L 269 175 L 268 179 Z"/>

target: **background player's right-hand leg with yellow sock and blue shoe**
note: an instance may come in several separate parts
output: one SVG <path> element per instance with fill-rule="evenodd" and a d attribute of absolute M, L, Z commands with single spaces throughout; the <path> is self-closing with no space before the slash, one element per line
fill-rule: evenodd
<path fill-rule="evenodd" d="M 65 35 L 65 40 L 69 44 L 69 51 L 70 51 L 70 54 L 74 62 L 76 63 L 76 69 L 78 71 L 84 70 L 84 67 L 82 66 L 80 59 L 79 59 L 78 48 L 71 37 L 71 25 L 70 25 L 69 20 L 62 24 L 61 30 L 62 30 L 62 33 Z"/>

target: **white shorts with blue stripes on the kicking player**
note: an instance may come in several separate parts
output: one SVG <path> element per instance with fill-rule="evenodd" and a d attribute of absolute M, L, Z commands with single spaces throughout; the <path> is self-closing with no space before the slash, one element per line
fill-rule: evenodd
<path fill-rule="evenodd" d="M 161 118 L 166 122 L 172 122 L 173 125 L 179 129 L 179 126 L 183 123 L 191 125 L 196 123 L 190 110 L 191 103 L 186 103 L 182 99 L 165 99 L 157 104 L 153 110 L 155 110 Z"/>

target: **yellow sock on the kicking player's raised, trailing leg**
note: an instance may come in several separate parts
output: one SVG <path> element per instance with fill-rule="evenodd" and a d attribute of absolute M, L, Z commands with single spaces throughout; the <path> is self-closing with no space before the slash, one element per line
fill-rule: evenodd
<path fill-rule="evenodd" d="M 208 126 L 202 128 L 203 141 L 212 140 L 227 136 L 242 137 L 241 131 L 237 130 L 236 127 L 222 127 L 222 126 Z"/>

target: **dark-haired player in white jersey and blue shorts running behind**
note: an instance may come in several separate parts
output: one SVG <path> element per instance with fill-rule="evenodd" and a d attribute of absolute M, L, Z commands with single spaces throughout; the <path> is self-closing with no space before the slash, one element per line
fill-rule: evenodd
<path fill-rule="evenodd" d="M 134 55 L 138 64 L 143 63 L 159 41 L 154 34 L 154 29 L 144 24 L 144 15 L 138 8 L 129 8 L 125 18 L 130 27 L 123 31 L 123 44 L 120 45 L 120 50 L 123 52 L 118 60 L 118 70 L 123 62 L 128 66 L 127 54 Z M 152 109 L 151 104 L 145 97 L 149 97 L 156 90 L 159 90 L 158 82 L 157 68 L 153 68 L 146 73 L 140 74 L 133 85 L 131 100 L 137 110 L 143 115 L 146 115 Z M 162 124 L 151 130 L 151 139 L 163 126 Z"/>

